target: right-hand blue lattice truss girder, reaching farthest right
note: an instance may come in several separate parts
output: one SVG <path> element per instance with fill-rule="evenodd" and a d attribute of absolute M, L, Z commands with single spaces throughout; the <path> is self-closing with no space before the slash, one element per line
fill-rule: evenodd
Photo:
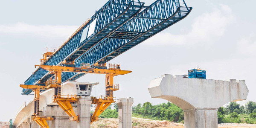
<path fill-rule="evenodd" d="M 185 5 L 185 7 L 180 7 L 180 5 Z M 192 8 L 187 7 L 184 0 L 182 4 L 179 0 L 157 0 L 120 29 L 113 32 L 108 39 L 83 54 L 76 60 L 75 64 L 76 66 L 83 62 L 104 64 L 182 20 L 191 10 Z M 76 75 L 72 77 L 76 77 Z"/>

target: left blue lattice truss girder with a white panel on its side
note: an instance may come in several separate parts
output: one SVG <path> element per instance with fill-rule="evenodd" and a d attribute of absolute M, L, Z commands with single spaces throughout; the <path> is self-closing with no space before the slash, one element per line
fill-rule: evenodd
<path fill-rule="evenodd" d="M 137 15 L 141 9 L 143 9 L 144 3 L 134 0 L 109 0 L 93 17 L 90 18 L 90 22 L 83 28 L 76 32 L 66 44 L 61 46 L 58 52 L 50 56 L 44 65 L 59 65 L 62 61 L 73 61 L 84 51 L 90 49 L 93 45 L 104 39 L 108 34 L 113 32 L 127 22 L 130 18 Z M 96 23 L 94 22 L 96 21 Z M 91 30 L 93 33 L 88 35 L 90 30 L 90 24 L 95 24 L 95 29 Z M 88 29 L 84 31 L 84 29 Z M 83 32 L 87 32 L 85 35 L 87 38 L 81 41 Z M 64 76 L 73 76 L 72 73 L 64 73 Z M 76 74 L 77 75 L 77 74 Z M 80 74 L 82 75 L 82 74 Z M 49 72 L 38 68 L 32 76 L 25 81 L 25 84 L 37 84 L 38 81 L 44 82 L 51 78 Z M 74 77 L 76 78 L 76 77 Z M 67 79 L 70 79 L 68 77 Z M 32 90 L 23 89 L 22 94 L 29 94 Z"/>

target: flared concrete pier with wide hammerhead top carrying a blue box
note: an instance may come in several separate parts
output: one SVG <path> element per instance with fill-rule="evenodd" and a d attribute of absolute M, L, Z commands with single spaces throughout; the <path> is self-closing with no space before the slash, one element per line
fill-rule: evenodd
<path fill-rule="evenodd" d="M 166 99 L 184 111 L 185 128 L 218 128 L 219 107 L 245 100 L 249 93 L 244 80 L 188 79 L 163 75 L 150 82 L 152 98 Z"/>

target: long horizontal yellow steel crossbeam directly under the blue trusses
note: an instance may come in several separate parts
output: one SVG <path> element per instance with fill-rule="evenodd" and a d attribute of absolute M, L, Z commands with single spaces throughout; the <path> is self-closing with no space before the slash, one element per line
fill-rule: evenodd
<path fill-rule="evenodd" d="M 108 74 L 113 73 L 114 76 L 125 75 L 132 71 L 127 70 L 115 70 L 115 69 L 97 69 L 88 67 L 64 67 L 64 66 L 51 66 L 51 65 L 40 65 L 44 70 L 50 72 L 73 72 L 73 73 L 94 73 L 94 74 Z"/>

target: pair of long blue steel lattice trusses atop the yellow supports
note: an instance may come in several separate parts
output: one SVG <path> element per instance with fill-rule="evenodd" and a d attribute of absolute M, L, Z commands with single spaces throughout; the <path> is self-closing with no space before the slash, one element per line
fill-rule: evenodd
<path fill-rule="evenodd" d="M 104 64 L 186 17 L 192 8 L 182 1 L 157 0 L 145 7 L 139 0 L 109 0 L 91 17 L 90 23 L 45 65 L 59 65 L 64 60 L 75 61 L 76 67 L 80 67 L 81 63 Z M 90 27 L 94 25 L 94 32 L 90 35 Z M 84 75 L 64 72 L 62 82 L 75 81 Z M 38 81 L 44 82 L 51 77 L 48 71 L 39 68 L 25 84 L 37 84 Z M 31 92 L 32 90 L 23 89 L 22 94 Z"/>

